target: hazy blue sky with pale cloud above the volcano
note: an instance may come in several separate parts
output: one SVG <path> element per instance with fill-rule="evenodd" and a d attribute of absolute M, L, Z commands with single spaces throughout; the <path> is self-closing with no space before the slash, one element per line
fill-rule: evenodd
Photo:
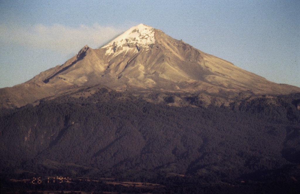
<path fill-rule="evenodd" d="M 140 23 L 270 81 L 300 87 L 299 0 L 0 0 L 0 88 Z"/>

